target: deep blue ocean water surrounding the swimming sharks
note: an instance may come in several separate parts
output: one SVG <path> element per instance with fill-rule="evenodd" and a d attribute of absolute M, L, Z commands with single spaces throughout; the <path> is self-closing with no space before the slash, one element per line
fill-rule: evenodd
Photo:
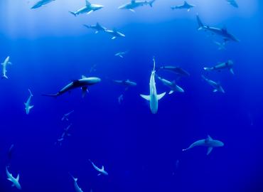
<path fill-rule="evenodd" d="M 6 179 L 6 166 L 20 174 L 22 191 L 75 191 L 70 174 L 82 191 L 263 191 L 263 2 L 190 0 L 190 11 L 171 10 L 181 0 L 156 0 L 153 7 L 119 10 L 124 0 L 92 0 L 104 8 L 73 16 L 83 0 L 56 0 L 39 9 L 36 1 L 0 1 L 0 60 L 7 56 L 8 80 L 0 80 L 0 191 L 19 191 Z M 227 28 L 240 42 L 198 31 L 196 14 L 208 26 Z M 112 40 L 83 24 L 100 22 L 117 28 L 125 38 Z M 124 58 L 115 53 L 127 51 Z M 189 77 L 166 71 L 185 92 L 168 95 L 156 78 L 157 114 L 139 95 L 149 95 L 149 79 L 156 66 L 180 66 Z M 228 70 L 206 72 L 203 67 L 233 60 Z M 95 70 L 92 70 L 95 69 Z M 1 70 L 2 72 L 2 70 Z M 82 98 L 79 88 L 58 92 L 81 75 L 101 78 Z M 220 82 L 225 94 L 201 75 Z M 132 80 L 124 91 L 112 80 Z M 23 102 L 33 93 L 29 114 Z M 123 94 L 123 101 L 118 102 Z M 63 114 L 74 110 L 69 121 Z M 63 129 L 72 124 L 60 145 Z M 206 147 L 190 144 L 205 139 L 224 142 L 206 155 Z M 8 156 L 9 147 L 14 144 Z M 97 176 L 90 160 L 109 173 Z M 70 173 L 70 174 L 69 174 Z"/>

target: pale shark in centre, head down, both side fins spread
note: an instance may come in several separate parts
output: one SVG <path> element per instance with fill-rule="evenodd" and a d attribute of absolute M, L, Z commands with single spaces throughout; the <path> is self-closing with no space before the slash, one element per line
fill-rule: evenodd
<path fill-rule="evenodd" d="M 156 114 L 158 111 L 158 101 L 161 100 L 161 98 L 163 98 L 164 95 L 166 95 L 166 92 L 157 95 L 156 83 L 155 83 L 155 72 L 156 72 L 155 59 L 153 60 L 154 60 L 154 69 L 151 71 L 151 78 L 149 83 L 150 95 L 140 95 L 140 96 L 150 102 L 151 113 Z"/>

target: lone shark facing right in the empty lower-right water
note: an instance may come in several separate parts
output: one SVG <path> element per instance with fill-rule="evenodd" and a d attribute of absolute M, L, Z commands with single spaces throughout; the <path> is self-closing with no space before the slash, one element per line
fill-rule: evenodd
<path fill-rule="evenodd" d="M 189 149 L 192 149 L 195 146 L 207 146 L 208 151 L 206 154 L 209 155 L 214 147 L 224 146 L 224 143 L 220 142 L 218 140 L 214 140 L 214 139 L 212 139 L 212 137 L 210 137 L 208 135 L 208 137 L 206 139 L 201 139 L 201 140 L 198 140 L 197 142 L 194 142 L 193 144 L 190 144 L 190 146 L 187 149 L 183 149 L 183 151 L 187 151 Z"/>

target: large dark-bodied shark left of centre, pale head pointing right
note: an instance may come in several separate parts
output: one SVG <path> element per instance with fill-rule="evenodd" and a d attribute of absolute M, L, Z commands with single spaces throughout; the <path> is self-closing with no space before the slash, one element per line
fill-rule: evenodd
<path fill-rule="evenodd" d="M 59 92 L 49 95 L 43 94 L 43 96 L 58 97 L 59 95 L 63 95 L 65 92 L 69 92 L 70 90 L 81 87 L 82 97 L 85 97 L 87 93 L 87 87 L 89 87 L 90 85 L 95 85 L 100 81 L 100 78 L 87 78 L 82 75 L 82 78 L 80 80 L 74 80 L 73 82 L 70 82 L 70 84 L 63 87 Z"/>

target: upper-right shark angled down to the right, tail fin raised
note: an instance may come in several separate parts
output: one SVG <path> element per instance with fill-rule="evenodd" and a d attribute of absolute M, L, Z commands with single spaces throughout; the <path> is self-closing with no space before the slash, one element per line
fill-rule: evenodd
<path fill-rule="evenodd" d="M 196 18 L 198 21 L 198 31 L 200 30 L 210 31 L 211 33 L 215 33 L 218 36 L 222 36 L 222 38 L 224 38 L 224 41 L 235 41 L 235 42 L 240 41 L 235 36 L 233 36 L 231 33 L 229 33 L 227 31 L 227 28 L 215 28 L 215 27 L 205 26 L 200 20 L 198 14 L 196 15 Z"/>

